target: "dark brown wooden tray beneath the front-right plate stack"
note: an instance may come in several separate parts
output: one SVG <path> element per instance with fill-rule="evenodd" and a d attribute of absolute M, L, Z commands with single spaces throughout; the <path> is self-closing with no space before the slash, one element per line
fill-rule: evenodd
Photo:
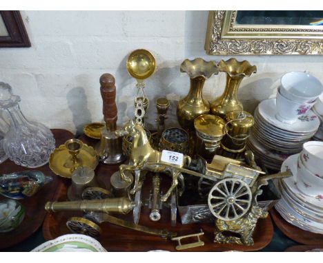
<path fill-rule="evenodd" d="M 277 225 L 277 227 L 288 236 L 288 238 L 291 238 L 291 240 L 294 240 L 297 243 L 300 244 L 307 244 L 307 245 L 317 245 L 317 244 L 323 244 L 323 235 L 315 234 L 309 231 L 305 231 L 303 229 L 300 229 L 298 227 L 295 227 L 293 224 L 288 223 L 284 218 L 282 218 L 282 215 L 276 211 L 275 208 L 270 210 L 271 218 L 273 218 L 273 221 Z"/>

